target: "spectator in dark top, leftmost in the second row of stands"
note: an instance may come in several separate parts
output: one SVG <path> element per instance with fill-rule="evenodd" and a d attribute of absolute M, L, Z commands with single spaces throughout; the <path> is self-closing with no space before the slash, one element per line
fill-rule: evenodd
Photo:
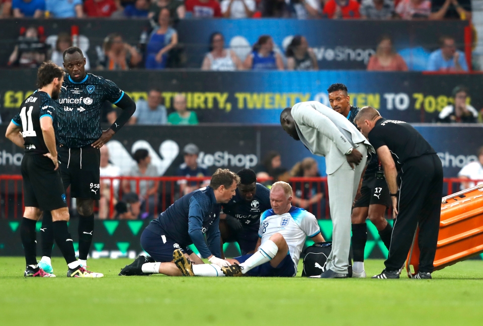
<path fill-rule="evenodd" d="M 41 36 L 41 35 L 40 35 Z M 48 46 L 39 36 L 35 27 L 29 27 L 24 35 L 18 39 L 18 43 L 9 58 L 9 66 L 21 68 L 38 68 L 47 57 Z"/>

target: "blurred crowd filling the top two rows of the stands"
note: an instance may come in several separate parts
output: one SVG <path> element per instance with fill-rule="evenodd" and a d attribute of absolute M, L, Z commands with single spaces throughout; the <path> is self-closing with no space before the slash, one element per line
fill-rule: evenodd
<path fill-rule="evenodd" d="M 298 19 L 417 19 L 471 20 L 469 0 L 3 0 L 3 18 L 138 18 L 149 19 L 147 30 L 139 33 L 137 44 L 129 44 L 119 33 L 105 36 L 97 49 L 96 60 L 88 70 L 165 69 L 186 66 L 186 44 L 179 42 L 178 22 L 189 18 L 282 17 Z M 22 28 L 9 58 L 10 67 L 39 67 L 45 60 L 61 63 L 59 53 L 72 45 L 67 31 L 46 39 L 43 28 Z M 436 44 L 438 40 L 434 40 Z M 262 35 L 249 45 L 227 47 L 223 31 L 206 40 L 208 52 L 200 64 L 203 70 L 318 70 L 313 49 L 303 35 L 296 35 L 280 49 L 270 35 Z M 468 71 L 462 45 L 451 36 L 443 36 L 440 49 L 427 63 L 428 71 Z M 76 45 L 76 44 L 74 44 Z M 191 45 L 190 45 L 191 46 Z M 199 46 L 199 45 L 196 45 Z M 243 47 L 243 49 L 241 49 Z M 191 51 L 191 49 L 189 49 Z M 371 71 L 407 71 L 409 63 L 397 54 L 390 35 L 380 38 L 369 62 Z M 188 59 L 189 60 L 189 59 Z M 407 60 L 407 59 L 406 59 Z"/>

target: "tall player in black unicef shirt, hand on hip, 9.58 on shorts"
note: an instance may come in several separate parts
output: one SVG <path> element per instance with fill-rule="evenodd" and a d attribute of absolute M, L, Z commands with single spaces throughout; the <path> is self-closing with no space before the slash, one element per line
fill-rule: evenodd
<path fill-rule="evenodd" d="M 60 174 L 65 189 L 76 198 L 81 218 L 78 225 L 79 262 L 86 267 L 94 231 L 94 200 L 100 199 L 100 148 L 129 120 L 136 104 L 115 83 L 86 73 L 82 50 L 70 47 L 63 53 L 64 76 L 58 99 L 57 136 L 60 141 Z M 110 101 L 122 113 L 106 131 L 100 127 L 101 106 Z M 42 221 L 41 267 L 51 269 L 53 234 L 50 214 Z M 98 277 L 103 275 L 98 273 Z"/>

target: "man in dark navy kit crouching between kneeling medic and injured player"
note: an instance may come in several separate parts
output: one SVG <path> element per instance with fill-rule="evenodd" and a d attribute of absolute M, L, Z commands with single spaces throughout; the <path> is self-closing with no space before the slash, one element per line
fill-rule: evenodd
<path fill-rule="evenodd" d="M 257 183 L 253 170 L 241 169 L 236 174 L 240 177 L 240 183 L 233 198 L 222 204 L 220 232 L 223 243 L 236 241 L 241 255 L 246 255 L 253 253 L 257 246 L 260 215 L 272 206 L 270 190 Z"/>

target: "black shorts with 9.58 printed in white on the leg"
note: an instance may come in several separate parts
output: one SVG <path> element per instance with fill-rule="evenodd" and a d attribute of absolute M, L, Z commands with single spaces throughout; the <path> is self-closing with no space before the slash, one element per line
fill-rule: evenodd
<path fill-rule="evenodd" d="M 64 188 L 70 185 L 70 196 L 101 199 L 101 151 L 92 146 L 59 149 L 60 175 Z"/>

